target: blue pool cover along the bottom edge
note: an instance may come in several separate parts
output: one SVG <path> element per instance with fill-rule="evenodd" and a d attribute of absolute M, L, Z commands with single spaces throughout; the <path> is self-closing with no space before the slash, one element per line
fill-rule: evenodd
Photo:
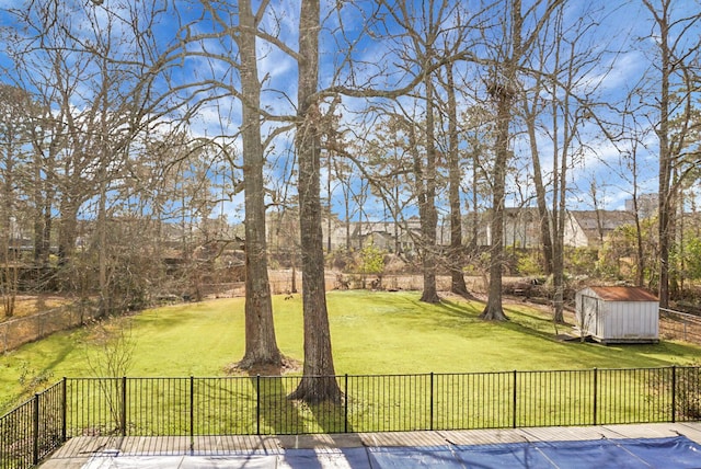
<path fill-rule="evenodd" d="M 470 446 L 262 450 L 221 456 L 94 456 L 96 468 L 701 468 L 701 445 L 685 436 Z"/>

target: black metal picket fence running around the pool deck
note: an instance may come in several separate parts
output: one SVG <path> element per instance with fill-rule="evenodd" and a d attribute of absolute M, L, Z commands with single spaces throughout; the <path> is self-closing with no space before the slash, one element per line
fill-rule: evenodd
<path fill-rule="evenodd" d="M 0 467 L 77 436 L 395 432 L 701 420 L 701 368 L 334 377 L 340 402 L 289 400 L 299 376 L 64 378 L 0 417 Z M 329 379 L 329 377 L 319 377 Z"/>

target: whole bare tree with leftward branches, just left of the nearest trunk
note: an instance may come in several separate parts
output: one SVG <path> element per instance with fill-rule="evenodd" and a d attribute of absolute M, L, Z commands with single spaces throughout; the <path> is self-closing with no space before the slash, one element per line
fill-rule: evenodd
<path fill-rule="evenodd" d="M 256 38 L 269 37 L 261 27 L 268 10 L 268 1 L 257 3 L 242 1 L 226 3 L 197 0 L 188 7 L 202 8 L 202 16 L 183 15 L 181 24 L 182 44 L 173 49 L 173 56 L 183 60 L 205 60 L 208 69 L 193 73 L 179 83 L 179 99 L 191 102 L 191 113 L 200 108 L 212 110 L 220 119 L 222 135 L 209 137 L 222 147 L 232 147 L 240 137 L 242 141 L 242 180 L 234 183 L 232 174 L 237 168 L 234 155 L 226 150 L 229 179 L 233 187 L 230 196 L 243 191 L 245 210 L 245 352 L 239 367 L 252 369 L 258 366 L 281 365 L 273 321 L 273 306 L 268 279 L 266 205 L 268 191 L 265 187 L 265 152 L 279 129 L 263 138 L 262 123 L 275 119 L 261 104 L 261 78 L 258 77 L 258 52 Z M 195 20 L 191 20 L 191 19 Z M 199 24 L 205 22 L 206 24 Z M 226 71 L 221 71 L 226 70 Z M 235 76 L 238 73 L 238 77 Z M 195 98 L 191 98 L 195 96 Z M 231 102 L 241 104 L 240 133 L 231 135 L 226 116 L 231 114 Z M 209 106 L 209 107 L 207 107 Z M 291 121 L 291 119 L 290 119 Z"/>

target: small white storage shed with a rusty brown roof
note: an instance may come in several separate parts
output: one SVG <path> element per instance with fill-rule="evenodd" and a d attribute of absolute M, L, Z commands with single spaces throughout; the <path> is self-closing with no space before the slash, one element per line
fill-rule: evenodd
<path fill-rule="evenodd" d="M 588 287 L 575 301 L 583 335 L 605 344 L 659 341 L 659 300 L 643 288 Z"/>

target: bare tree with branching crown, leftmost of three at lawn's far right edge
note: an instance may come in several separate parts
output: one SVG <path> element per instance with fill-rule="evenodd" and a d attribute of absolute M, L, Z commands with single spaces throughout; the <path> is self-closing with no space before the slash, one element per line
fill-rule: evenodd
<path fill-rule="evenodd" d="M 438 262 L 436 203 L 439 174 L 437 146 L 439 125 L 436 116 L 438 115 L 439 100 L 436 88 L 440 69 L 446 66 L 450 67 L 453 60 L 462 57 L 458 49 L 466 46 L 462 32 L 471 26 L 471 19 L 464 18 L 463 23 L 461 21 L 463 19 L 461 5 L 445 0 L 430 0 L 421 4 L 382 1 L 380 7 L 384 9 L 388 18 L 391 18 L 393 23 L 400 26 L 401 34 L 398 34 L 395 39 L 397 48 L 393 54 L 401 60 L 402 68 L 411 71 L 407 73 L 410 80 L 406 87 L 397 87 L 391 92 L 386 92 L 383 98 L 397 99 L 393 104 L 394 112 L 403 113 L 404 117 L 413 121 L 413 125 L 416 127 L 409 129 L 410 141 L 413 140 L 416 147 L 410 149 L 407 153 L 413 156 L 414 196 L 418 206 L 421 226 L 417 239 L 424 277 L 421 300 L 437 302 L 439 297 L 436 286 Z M 440 54 L 439 49 L 447 52 L 447 54 Z M 368 89 L 365 90 L 365 93 L 368 96 L 379 94 L 378 90 Z M 423 113 L 414 113 L 413 115 L 409 113 L 407 106 L 402 104 L 400 98 L 404 95 L 411 95 L 412 99 L 417 100 Z M 456 144 L 457 151 L 455 140 L 453 144 Z M 423 152 L 420 152 L 418 148 L 423 148 Z M 453 173 L 453 176 L 457 176 L 457 173 Z M 458 282 L 457 277 L 456 282 Z M 467 290 L 467 288 L 464 289 Z"/>

